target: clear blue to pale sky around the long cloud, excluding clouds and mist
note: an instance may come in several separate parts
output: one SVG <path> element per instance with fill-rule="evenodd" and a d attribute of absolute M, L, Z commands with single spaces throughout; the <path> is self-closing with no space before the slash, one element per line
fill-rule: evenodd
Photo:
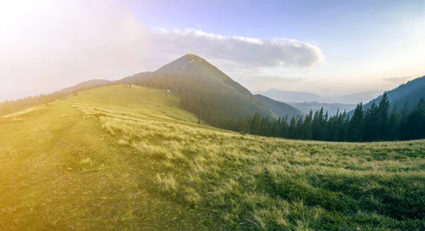
<path fill-rule="evenodd" d="M 336 81 L 339 86 L 346 85 L 342 91 L 366 91 L 392 88 L 424 74 L 425 69 L 419 67 L 419 62 L 411 62 L 412 59 L 424 59 L 424 55 L 412 54 L 424 51 L 421 45 L 425 40 L 424 2 L 143 1 L 140 4 L 134 1 L 131 6 L 148 28 L 197 28 L 225 36 L 261 40 L 290 38 L 317 45 L 325 56 L 324 67 L 308 72 L 288 68 L 263 72 L 273 77 L 284 75 L 286 79 L 310 78 L 309 84 L 316 81 L 322 82 L 319 85 L 329 85 L 327 81 Z M 400 58 L 403 55 L 409 57 L 404 60 Z M 409 66 L 402 67 L 406 63 Z M 385 64 L 392 68 L 382 70 Z M 374 68 L 379 70 L 370 72 Z M 227 71 L 249 89 L 266 89 L 276 84 L 273 81 L 259 86 L 258 81 L 253 81 L 251 85 L 249 77 L 239 77 L 230 69 Z M 396 77 L 400 77 L 399 81 L 394 79 Z M 378 80 L 385 78 L 393 81 Z M 368 81 L 370 79 L 373 81 Z M 358 80 L 365 83 L 353 86 Z M 285 81 L 278 85 L 288 86 Z M 295 86 L 305 85 L 304 82 L 292 85 L 295 91 L 314 91 L 311 87 Z M 285 86 L 280 88 L 291 87 Z M 318 93 L 341 94 L 336 89 L 339 86 L 322 87 Z"/>

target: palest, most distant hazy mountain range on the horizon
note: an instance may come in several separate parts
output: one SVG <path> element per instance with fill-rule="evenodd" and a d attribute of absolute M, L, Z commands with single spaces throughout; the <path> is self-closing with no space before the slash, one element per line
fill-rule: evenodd
<path fill-rule="evenodd" d="M 337 95 L 337 96 L 319 96 L 318 94 L 300 91 L 283 91 L 279 89 L 268 89 L 267 91 L 253 91 L 253 94 L 261 94 L 277 101 L 283 102 L 321 102 L 321 103 L 346 103 L 357 104 L 368 102 L 384 91 L 364 91 L 356 94 Z M 324 105 L 325 106 L 325 105 Z"/>

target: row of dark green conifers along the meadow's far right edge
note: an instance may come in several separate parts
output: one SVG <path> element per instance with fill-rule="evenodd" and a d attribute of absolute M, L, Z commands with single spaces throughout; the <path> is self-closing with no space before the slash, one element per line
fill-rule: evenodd
<path fill-rule="evenodd" d="M 295 140 L 323 140 L 334 142 L 373 142 L 385 140 L 415 140 L 425 138 L 424 98 L 409 111 L 404 103 L 402 113 L 397 106 L 390 107 L 385 92 L 380 103 L 372 103 L 367 109 L 358 103 L 353 116 L 338 111 L 329 116 L 323 108 L 307 116 L 293 116 L 288 120 L 270 120 L 256 113 L 239 123 L 242 133 L 268 137 L 285 137 Z"/>

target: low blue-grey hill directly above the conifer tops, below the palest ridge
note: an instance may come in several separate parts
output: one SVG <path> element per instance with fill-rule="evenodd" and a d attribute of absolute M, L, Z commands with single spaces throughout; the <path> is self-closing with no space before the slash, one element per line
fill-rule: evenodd
<path fill-rule="evenodd" d="M 290 106 L 293 106 L 294 108 L 297 108 L 298 110 L 302 111 L 303 113 L 307 114 L 310 112 L 310 110 L 318 111 L 320 108 L 323 107 L 324 111 L 328 112 L 329 116 L 333 116 L 336 114 L 336 111 L 351 111 L 354 108 L 356 108 L 356 104 L 347 104 L 347 103 L 319 103 L 319 102 L 303 102 L 303 103 L 297 103 L 297 102 L 285 102 L 288 103 Z"/>

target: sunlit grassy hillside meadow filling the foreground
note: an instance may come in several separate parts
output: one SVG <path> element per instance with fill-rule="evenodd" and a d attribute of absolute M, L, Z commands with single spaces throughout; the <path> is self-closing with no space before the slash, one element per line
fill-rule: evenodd
<path fill-rule="evenodd" d="M 0 230 L 425 230 L 423 140 L 196 121 L 175 96 L 123 86 L 1 118 Z"/>

